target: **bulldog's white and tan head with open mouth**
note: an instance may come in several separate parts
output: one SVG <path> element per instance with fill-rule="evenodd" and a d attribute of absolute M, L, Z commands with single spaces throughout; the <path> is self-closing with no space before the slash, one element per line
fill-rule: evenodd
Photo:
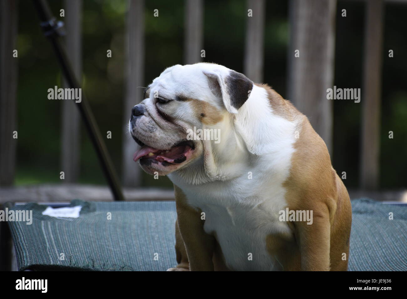
<path fill-rule="evenodd" d="M 166 175 L 188 165 L 205 167 L 208 157 L 214 163 L 212 160 L 233 156 L 234 149 L 226 148 L 233 115 L 252 88 L 253 82 L 243 74 L 221 65 L 168 67 L 131 111 L 129 132 L 141 147 L 133 160 L 147 173 Z M 199 135 L 199 129 L 208 131 Z M 213 140 L 216 132 L 222 135 L 220 142 Z M 213 134 L 212 140 L 203 138 L 206 133 Z"/>

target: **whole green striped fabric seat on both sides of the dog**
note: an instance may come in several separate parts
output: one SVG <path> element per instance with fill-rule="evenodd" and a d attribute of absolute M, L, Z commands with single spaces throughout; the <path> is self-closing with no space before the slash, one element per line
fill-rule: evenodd
<path fill-rule="evenodd" d="M 177 264 L 175 202 L 71 203 L 78 205 L 79 218 L 42 215 L 46 207 L 34 203 L 9 207 L 33 210 L 31 225 L 9 222 L 20 270 L 163 271 Z M 349 270 L 407 270 L 407 207 L 359 199 L 352 209 Z"/>

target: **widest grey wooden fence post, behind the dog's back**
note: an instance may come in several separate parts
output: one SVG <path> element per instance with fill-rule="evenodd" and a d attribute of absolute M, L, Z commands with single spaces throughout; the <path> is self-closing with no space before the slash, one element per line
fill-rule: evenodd
<path fill-rule="evenodd" d="M 290 10 L 288 99 L 309 117 L 332 154 L 333 103 L 326 89 L 333 88 L 336 0 L 291 0 Z"/>

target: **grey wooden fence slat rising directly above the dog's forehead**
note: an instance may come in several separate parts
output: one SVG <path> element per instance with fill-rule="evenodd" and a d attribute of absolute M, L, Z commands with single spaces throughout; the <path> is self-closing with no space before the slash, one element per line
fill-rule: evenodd
<path fill-rule="evenodd" d="M 185 1 L 184 62 L 193 64 L 202 61 L 203 45 L 203 0 Z"/>

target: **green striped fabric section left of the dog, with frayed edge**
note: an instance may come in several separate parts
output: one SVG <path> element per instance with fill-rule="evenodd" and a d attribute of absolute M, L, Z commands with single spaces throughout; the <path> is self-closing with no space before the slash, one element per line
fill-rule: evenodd
<path fill-rule="evenodd" d="M 159 271 L 176 265 L 174 202 L 83 202 L 79 218 L 42 215 L 9 222 L 20 270 Z M 14 207 L 15 209 L 15 207 Z M 112 219 L 107 220 L 107 212 Z M 60 254 L 65 260 L 60 260 Z"/>

